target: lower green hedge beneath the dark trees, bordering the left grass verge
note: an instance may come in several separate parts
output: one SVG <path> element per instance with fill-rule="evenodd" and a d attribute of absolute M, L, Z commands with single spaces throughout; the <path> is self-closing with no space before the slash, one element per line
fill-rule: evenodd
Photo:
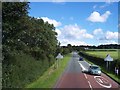
<path fill-rule="evenodd" d="M 3 88 L 23 88 L 42 75 L 54 62 L 53 56 L 36 60 L 30 55 L 17 51 L 11 51 L 4 60 L 7 60 L 7 63 L 3 61 L 2 64 Z"/>

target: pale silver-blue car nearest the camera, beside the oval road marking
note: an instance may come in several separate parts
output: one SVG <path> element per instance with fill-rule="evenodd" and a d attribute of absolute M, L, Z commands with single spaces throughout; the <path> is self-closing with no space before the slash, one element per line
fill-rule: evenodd
<path fill-rule="evenodd" d="M 90 74 L 101 75 L 101 69 L 97 65 L 90 65 L 88 72 Z"/>

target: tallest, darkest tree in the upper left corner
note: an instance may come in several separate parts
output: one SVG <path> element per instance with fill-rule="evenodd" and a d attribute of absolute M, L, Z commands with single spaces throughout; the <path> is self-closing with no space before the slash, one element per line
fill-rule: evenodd
<path fill-rule="evenodd" d="M 12 50 L 15 43 L 19 43 L 18 34 L 25 29 L 25 17 L 28 14 L 28 3 L 6 2 L 2 4 L 2 43 L 3 49 L 11 46 Z M 21 23 L 22 22 L 22 23 Z M 10 48 L 10 47 L 8 47 Z"/>

